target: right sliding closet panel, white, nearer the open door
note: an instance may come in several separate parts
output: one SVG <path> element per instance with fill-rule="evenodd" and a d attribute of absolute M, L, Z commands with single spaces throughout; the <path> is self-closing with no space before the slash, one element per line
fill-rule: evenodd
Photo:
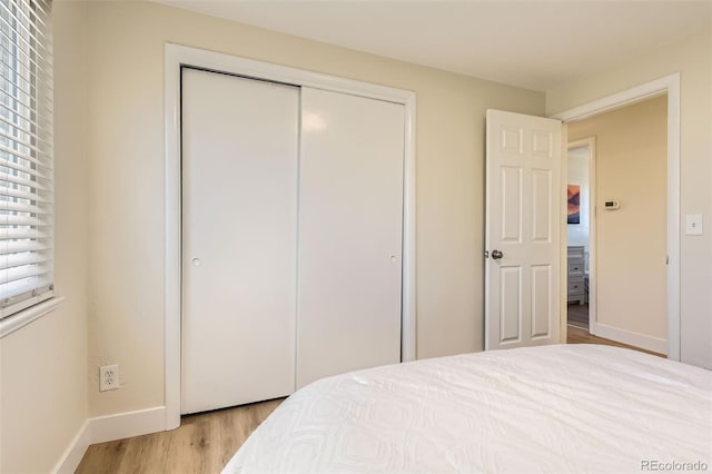
<path fill-rule="evenodd" d="M 301 89 L 297 387 L 400 362 L 404 111 Z"/>

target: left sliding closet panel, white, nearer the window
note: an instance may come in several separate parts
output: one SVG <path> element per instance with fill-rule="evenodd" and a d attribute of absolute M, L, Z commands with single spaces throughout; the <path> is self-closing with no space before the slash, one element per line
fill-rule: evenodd
<path fill-rule="evenodd" d="M 295 383 L 299 89 L 182 72 L 181 413 Z"/>

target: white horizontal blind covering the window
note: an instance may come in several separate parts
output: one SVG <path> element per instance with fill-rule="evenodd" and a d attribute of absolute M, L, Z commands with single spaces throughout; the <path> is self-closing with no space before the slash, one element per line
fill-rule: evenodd
<path fill-rule="evenodd" d="M 52 296 L 51 0 L 0 0 L 0 317 Z"/>

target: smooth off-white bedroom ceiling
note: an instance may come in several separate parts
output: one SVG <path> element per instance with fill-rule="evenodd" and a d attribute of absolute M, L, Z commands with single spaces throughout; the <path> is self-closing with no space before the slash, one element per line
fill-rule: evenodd
<path fill-rule="evenodd" d="M 158 1 L 538 91 L 712 23 L 712 0 Z"/>

